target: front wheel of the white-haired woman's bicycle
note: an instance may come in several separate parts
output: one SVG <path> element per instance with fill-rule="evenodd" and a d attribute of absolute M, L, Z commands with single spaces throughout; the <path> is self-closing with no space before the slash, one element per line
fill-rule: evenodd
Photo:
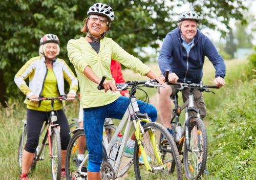
<path fill-rule="evenodd" d="M 52 169 L 52 178 L 53 180 L 60 179 L 61 172 L 61 143 L 60 143 L 60 134 L 57 127 L 52 129 L 51 134 L 51 169 Z"/>

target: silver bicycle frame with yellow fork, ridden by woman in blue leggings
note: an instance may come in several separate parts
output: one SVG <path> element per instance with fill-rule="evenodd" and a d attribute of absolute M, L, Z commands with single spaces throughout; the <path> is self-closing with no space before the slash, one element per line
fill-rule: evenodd
<path fill-rule="evenodd" d="M 119 123 L 119 126 L 117 127 L 117 129 L 116 129 L 116 131 L 115 131 L 115 133 L 114 133 L 110 142 L 109 142 L 108 137 L 106 136 L 106 133 L 104 132 L 104 129 L 103 129 L 103 144 L 106 147 L 106 149 L 105 149 L 106 154 L 108 155 L 108 160 L 110 161 L 110 163 L 111 163 L 111 165 L 114 169 L 114 172 L 116 174 L 116 178 L 122 177 L 133 165 L 133 160 L 131 160 L 121 171 L 119 171 L 122 154 L 123 154 L 123 151 L 124 151 L 125 144 L 126 144 L 128 138 L 129 138 L 129 132 L 131 130 L 132 123 L 135 127 L 135 136 L 136 136 L 137 142 L 139 144 L 139 148 L 140 148 L 140 151 L 141 151 L 143 161 L 144 161 L 144 165 L 145 165 L 146 169 L 148 171 L 152 172 L 152 171 L 157 171 L 159 169 L 164 169 L 165 168 L 163 163 L 162 163 L 162 159 L 161 159 L 161 156 L 160 156 L 160 152 L 159 152 L 159 149 L 158 149 L 158 145 L 156 143 L 156 137 L 155 137 L 154 133 L 150 133 L 150 139 L 151 139 L 152 142 L 154 142 L 152 144 L 153 144 L 154 151 L 156 153 L 156 159 L 159 162 L 159 164 L 161 165 L 161 167 L 160 168 L 159 167 L 151 167 L 150 164 L 148 163 L 146 151 L 143 148 L 143 145 L 141 143 L 142 134 L 144 133 L 144 130 L 143 130 L 140 122 L 148 123 L 148 122 L 151 122 L 151 121 L 148 118 L 147 119 L 144 119 L 144 118 L 138 119 L 138 121 L 135 120 L 134 115 L 136 114 L 135 113 L 136 110 L 134 111 L 134 109 L 136 109 L 136 107 L 138 107 L 138 104 L 137 104 L 137 101 L 133 101 L 132 98 L 135 98 L 135 97 L 131 96 L 131 103 L 129 104 L 129 107 L 125 111 L 125 114 L 124 114 L 121 122 Z M 136 100 L 136 98 L 135 98 L 135 100 Z M 126 126 L 125 126 L 125 123 L 126 123 Z M 121 130 L 123 129 L 124 126 L 125 126 L 125 130 L 124 130 L 121 145 L 120 145 L 119 150 L 117 152 L 118 155 L 117 155 L 116 159 L 113 160 L 109 156 L 110 156 L 112 147 L 114 146 L 115 139 L 118 136 L 118 133 L 121 132 Z M 81 168 L 82 168 L 83 164 L 86 161 L 88 161 L 88 154 L 86 155 L 86 158 L 83 159 L 82 163 L 80 164 L 80 166 L 78 168 L 79 174 L 81 174 L 83 176 L 87 175 L 87 172 L 82 172 L 81 171 Z"/>

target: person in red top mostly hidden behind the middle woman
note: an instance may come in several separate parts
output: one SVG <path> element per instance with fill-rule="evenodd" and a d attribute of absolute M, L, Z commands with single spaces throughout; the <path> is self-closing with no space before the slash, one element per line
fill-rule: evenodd
<path fill-rule="evenodd" d="M 117 62 L 117 61 L 111 59 L 110 71 L 111 71 L 112 77 L 115 80 L 115 83 L 124 83 L 125 82 L 125 80 L 123 79 L 123 74 L 122 74 L 121 70 L 122 70 L 122 68 L 121 68 L 120 62 Z M 120 91 L 120 93 L 122 96 L 129 97 L 129 92 L 127 89 L 124 91 Z M 83 110 L 82 110 L 81 103 L 80 103 L 80 107 L 79 107 L 78 122 L 79 122 L 79 127 L 83 127 Z M 112 119 L 106 118 L 105 122 L 104 122 L 104 126 L 110 125 L 110 124 L 113 124 Z M 108 134 L 108 133 L 109 133 L 109 131 L 106 130 L 106 134 Z M 81 141 L 85 143 L 85 140 L 81 140 Z M 82 147 L 83 146 L 78 146 L 79 149 L 78 149 L 77 160 L 76 160 L 78 164 L 80 164 L 84 158 Z"/>

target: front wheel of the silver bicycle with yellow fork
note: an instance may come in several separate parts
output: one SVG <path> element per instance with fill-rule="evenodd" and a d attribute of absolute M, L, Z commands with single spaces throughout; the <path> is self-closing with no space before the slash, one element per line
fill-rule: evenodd
<path fill-rule="evenodd" d="M 134 147 L 134 170 L 136 179 L 182 179 L 182 166 L 179 157 L 178 149 L 175 145 L 173 138 L 170 136 L 169 132 L 162 125 L 151 122 L 143 125 L 145 133 L 142 137 L 142 145 L 146 151 L 148 163 L 152 168 L 155 168 L 153 172 L 147 171 L 143 162 L 140 158 L 140 150 L 138 142 L 136 141 Z M 150 134 L 154 134 L 155 139 L 150 138 Z M 165 138 L 166 145 L 165 152 L 159 146 L 161 143 L 161 137 Z M 154 144 L 153 144 L 154 143 Z M 159 148 L 160 147 L 160 148 Z M 154 148 L 156 150 L 154 150 Z M 160 154 L 157 157 L 157 151 Z M 169 153 L 170 155 L 163 156 L 163 153 Z M 160 156 L 160 158 L 159 158 Z M 163 166 L 159 162 L 162 161 Z M 175 161 L 177 174 L 170 174 L 170 165 Z"/>

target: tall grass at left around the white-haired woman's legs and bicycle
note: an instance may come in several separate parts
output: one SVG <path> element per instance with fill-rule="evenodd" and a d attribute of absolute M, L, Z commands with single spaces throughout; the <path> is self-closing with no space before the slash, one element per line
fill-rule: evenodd
<path fill-rule="evenodd" d="M 0 110 L 0 175 L 1 179 L 18 179 L 20 168 L 17 163 L 17 151 L 22 120 L 26 119 L 26 105 L 19 100 L 10 100 L 8 108 Z M 77 118 L 79 103 L 66 103 L 66 115 Z M 34 171 L 30 173 L 33 180 L 52 179 L 49 147 L 46 146 L 45 160 L 38 161 Z"/>

